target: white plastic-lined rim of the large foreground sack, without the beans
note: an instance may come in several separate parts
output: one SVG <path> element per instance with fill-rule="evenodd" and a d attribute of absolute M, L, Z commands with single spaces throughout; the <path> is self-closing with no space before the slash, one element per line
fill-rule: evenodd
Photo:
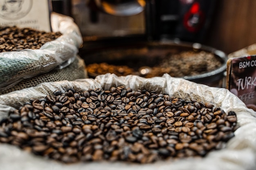
<path fill-rule="evenodd" d="M 106 74 L 96 79 L 78 79 L 76 81 L 60 81 L 42 83 L 36 87 L 26 88 L 0 96 L 0 119 L 7 116 L 10 109 L 20 107 L 31 97 L 45 97 L 59 89 L 65 91 L 72 87 L 77 91 L 88 88 L 125 86 L 133 89 L 155 90 L 176 97 L 197 99 L 212 102 L 226 113 L 233 110 L 237 114 L 238 125 L 235 137 L 227 142 L 225 148 L 210 152 L 203 158 L 186 158 L 173 161 L 157 161 L 150 164 L 121 162 L 92 162 L 64 164 L 48 160 L 22 151 L 15 146 L 0 144 L 0 169 L 8 170 L 255 170 L 256 167 L 256 113 L 245 106 L 234 94 L 225 88 L 214 88 L 195 84 L 182 78 L 174 78 L 165 74 L 163 77 L 142 78 L 135 75 L 117 77 Z"/>

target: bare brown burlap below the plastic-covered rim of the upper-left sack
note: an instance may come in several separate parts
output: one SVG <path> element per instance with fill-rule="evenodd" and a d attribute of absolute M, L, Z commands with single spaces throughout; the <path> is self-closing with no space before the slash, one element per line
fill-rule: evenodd
<path fill-rule="evenodd" d="M 49 73 L 38 75 L 30 79 L 25 79 L 22 82 L 10 88 L 0 91 L 0 94 L 2 95 L 9 92 L 21 90 L 23 88 L 34 87 L 44 82 L 57 82 L 61 80 L 73 81 L 75 79 L 84 79 L 84 78 L 88 78 L 88 75 L 85 69 L 85 63 L 83 59 L 77 56 L 74 62 L 72 62 L 69 66 L 63 69 L 52 70 Z"/>

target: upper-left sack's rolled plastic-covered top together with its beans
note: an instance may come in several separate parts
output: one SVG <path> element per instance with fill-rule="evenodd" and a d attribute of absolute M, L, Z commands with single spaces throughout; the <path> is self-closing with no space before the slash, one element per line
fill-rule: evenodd
<path fill-rule="evenodd" d="M 83 40 L 73 19 L 51 14 L 52 32 L 0 27 L 0 89 L 61 69 L 74 61 Z"/>

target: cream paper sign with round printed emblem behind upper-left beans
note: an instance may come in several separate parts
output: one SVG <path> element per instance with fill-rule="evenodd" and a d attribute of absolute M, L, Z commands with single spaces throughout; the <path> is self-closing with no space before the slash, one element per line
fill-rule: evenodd
<path fill-rule="evenodd" d="M 0 26 L 51 31 L 49 0 L 0 0 Z"/>

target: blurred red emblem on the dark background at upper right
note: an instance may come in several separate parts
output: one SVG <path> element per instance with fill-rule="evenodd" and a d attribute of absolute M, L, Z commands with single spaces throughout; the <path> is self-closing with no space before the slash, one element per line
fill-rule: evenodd
<path fill-rule="evenodd" d="M 195 2 L 184 15 L 183 24 L 189 32 L 197 32 L 204 23 L 204 13 L 200 10 L 200 4 Z"/>

